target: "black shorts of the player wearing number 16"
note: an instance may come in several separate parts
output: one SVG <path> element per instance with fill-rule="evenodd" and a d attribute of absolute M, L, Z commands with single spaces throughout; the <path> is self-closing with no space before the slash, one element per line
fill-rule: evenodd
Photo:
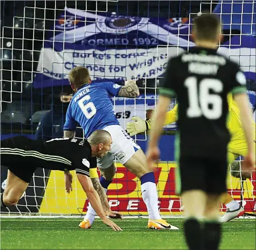
<path fill-rule="evenodd" d="M 175 175 L 176 193 L 202 190 L 220 195 L 227 191 L 227 158 L 181 156 Z"/>

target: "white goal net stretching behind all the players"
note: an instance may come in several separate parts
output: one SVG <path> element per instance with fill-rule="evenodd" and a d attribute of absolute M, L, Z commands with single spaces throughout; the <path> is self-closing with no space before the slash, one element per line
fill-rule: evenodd
<path fill-rule="evenodd" d="M 87 67 L 94 82 L 137 80 L 139 98 L 113 98 L 113 105 L 123 128 L 132 116 L 145 119 L 154 109 L 167 58 L 194 46 L 191 21 L 198 13 L 221 16 L 219 51 L 239 62 L 248 81 L 255 82 L 255 1 L 2 1 L 2 10 L 1 139 L 58 137 L 71 94 L 67 76 L 75 66 Z M 46 114 L 50 119 L 42 124 Z M 155 171 L 159 209 L 165 216 L 182 214 L 174 191 L 175 129 L 175 124 L 164 128 Z M 79 127 L 77 136 L 83 136 Z M 147 134 L 135 139 L 145 151 Z M 240 168 L 229 171 L 229 193 L 254 213 L 255 172 L 242 182 L 232 171 L 241 173 Z M 67 194 L 63 172 L 38 169 L 18 205 L 1 214 L 85 214 L 86 195 L 72 174 L 73 192 Z M 1 192 L 6 176 L 2 166 Z M 114 211 L 147 215 L 138 178 L 119 163 L 107 196 Z M 221 205 L 220 211 L 225 210 Z"/>

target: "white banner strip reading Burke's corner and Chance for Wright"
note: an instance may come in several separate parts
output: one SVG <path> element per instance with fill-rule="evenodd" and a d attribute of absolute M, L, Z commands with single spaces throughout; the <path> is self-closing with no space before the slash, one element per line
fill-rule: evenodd
<path fill-rule="evenodd" d="M 54 51 L 44 48 L 38 63 L 38 71 L 54 79 L 68 78 L 76 66 L 88 68 L 91 79 L 156 78 L 165 72 L 167 58 L 183 51 L 178 47 L 153 49 L 122 49 L 86 51 Z"/>

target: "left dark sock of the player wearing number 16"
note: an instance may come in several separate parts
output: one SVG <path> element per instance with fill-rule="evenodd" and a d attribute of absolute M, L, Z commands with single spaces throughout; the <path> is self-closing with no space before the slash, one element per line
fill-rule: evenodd
<path fill-rule="evenodd" d="M 188 218 L 184 223 L 184 233 L 187 246 L 190 250 L 203 249 L 202 230 L 200 221 L 196 218 Z"/>

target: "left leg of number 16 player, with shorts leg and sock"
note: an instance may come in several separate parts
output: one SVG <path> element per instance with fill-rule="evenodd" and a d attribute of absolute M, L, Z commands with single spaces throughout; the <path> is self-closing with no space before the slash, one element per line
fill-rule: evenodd
<path fill-rule="evenodd" d="M 175 184 L 184 207 L 184 235 L 189 249 L 202 249 L 201 220 L 205 211 L 205 170 L 198 158 L 177 159 Z"/>

